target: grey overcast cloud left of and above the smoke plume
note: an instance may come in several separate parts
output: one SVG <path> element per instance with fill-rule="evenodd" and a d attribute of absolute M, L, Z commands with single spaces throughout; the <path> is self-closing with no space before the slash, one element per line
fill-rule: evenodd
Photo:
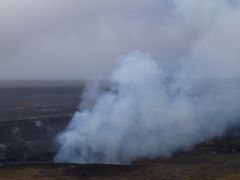
<path fill-rule="evenodd" d="M 183 53 L 179 45 L 188 38 L 171 25 L 172 8 L 156 0 L 3 0 L 0 77 L 104 76 L 135 49 L 170 60 Z"/>

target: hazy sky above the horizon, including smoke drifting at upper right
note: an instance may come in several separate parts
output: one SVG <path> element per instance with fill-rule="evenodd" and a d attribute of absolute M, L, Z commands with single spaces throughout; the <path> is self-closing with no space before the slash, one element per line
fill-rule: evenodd
<path fill-rule="evenodd" d="M 1 0 L 0 79 L 102 77 L 134 50 L 240 77 L 239 30 L 237 0 Z"/>

